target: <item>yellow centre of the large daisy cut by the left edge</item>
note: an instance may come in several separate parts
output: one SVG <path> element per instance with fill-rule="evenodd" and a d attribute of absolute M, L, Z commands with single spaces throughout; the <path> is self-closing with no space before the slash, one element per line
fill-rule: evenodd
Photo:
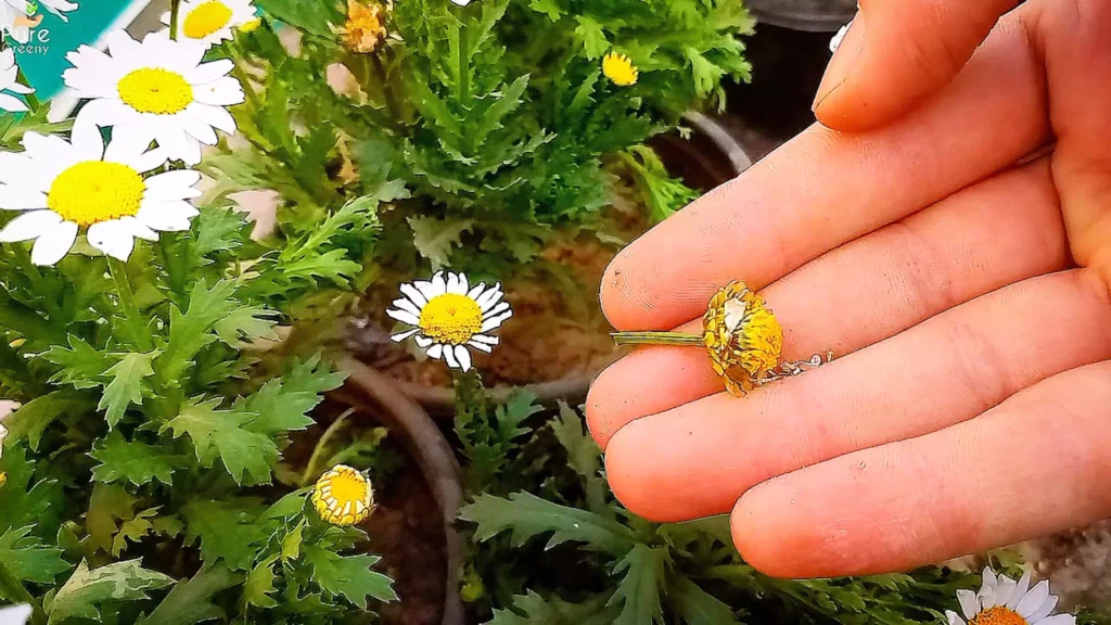
<path fill-rule="evenodd" d="M 139 212 L 147 185 L 126 165 L 87 160 L 54 178 L 47 206 L 78 226 L 119 219 Z"/>

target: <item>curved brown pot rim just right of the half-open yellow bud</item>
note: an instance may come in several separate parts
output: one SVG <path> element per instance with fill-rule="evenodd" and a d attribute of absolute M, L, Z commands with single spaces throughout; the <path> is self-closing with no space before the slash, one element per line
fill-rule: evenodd
<path fill-rule="evenodd" d="M 459 594 L 464 550 L 462 538 L 454 529 L 463 499 L 463 487 L 454 452 L 428 413 L 401 393 L 394 380 L 351 358 L 346 359 L 342 367 L 348 379 L 343 387 L 332 394 L 332 398 L 354 408 L 360 417 L 387 426 L 401 439 L 420 468 L 424 486 L 436 502 L 437 516 L 432 523 L 442 526 L 443 544 L 433 549 L 438 555 L 443 554 L 443 569 L 433 579 L 408 581 L 426 588 L 431 586 L 433 591 L 439 591 L 442 585 L 442 594 L 437 593 L 443 597 L 442 608 L 431 606 L 439 614 L 429 614 L 430 606 L 407 606 L 407 581 L 398 579 L 400 611 L 396 618 L 388 618 L 387 622 L 464 625 L 463 604 Z M 374 520 L 374 515 L 371 515 L 370 522 Z M 410 520 L 429 519 L 424 517 Z M 404 549 L 409 545 L 400 547 Z M 439 550 L 441 547 L 442 552 Z"/>

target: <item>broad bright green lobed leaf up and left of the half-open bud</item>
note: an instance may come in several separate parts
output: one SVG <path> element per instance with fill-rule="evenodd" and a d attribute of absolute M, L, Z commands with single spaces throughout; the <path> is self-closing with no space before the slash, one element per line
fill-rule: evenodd
<path fill-rule="evenodd" d="M 237 484 L 269 484 L 271 467 L 279 458 L 278 446 L 270 437 L 243 427 L 257 415 L 217 410 L 219 405 L 219 398 L 193 399 L 182 407 L 180 415 L 162 426 L 162 430 L 173 430 L 174 438 L 188 434 L 198 462 L 206 466 L 211 466 L 219 456 Z"/>

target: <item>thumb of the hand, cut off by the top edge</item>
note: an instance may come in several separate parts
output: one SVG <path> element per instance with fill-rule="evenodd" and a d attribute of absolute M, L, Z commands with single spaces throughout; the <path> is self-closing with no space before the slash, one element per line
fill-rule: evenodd
<path fill-rule="evenodd" d="M 860 0 L 814 115 L 848 132 L 899 117 L 949 83 L 1018 0 Z"/>

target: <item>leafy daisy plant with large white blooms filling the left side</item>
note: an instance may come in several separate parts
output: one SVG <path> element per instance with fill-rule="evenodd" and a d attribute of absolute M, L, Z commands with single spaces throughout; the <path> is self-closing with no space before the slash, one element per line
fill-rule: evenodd
<path fill-rule="evenodd" d="M 178 11 L 71 52 L 58 125 L 0 52 L 0 622 L 364 622 L 397 595 L 360 553 L 363 456 L 314 492 L 286 449 L 343 380 L 300 329 L 366 286 L 399 190 L 252 239 L 192 165 L 237 130 L 223 47 L 253 9 Z"/>

